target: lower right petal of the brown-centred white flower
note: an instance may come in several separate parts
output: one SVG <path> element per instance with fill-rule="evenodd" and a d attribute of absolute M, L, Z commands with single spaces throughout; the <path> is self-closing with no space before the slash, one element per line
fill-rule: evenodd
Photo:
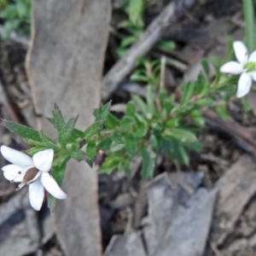
<path fill-rule="evenodd" d="M 67 194 L 62 191 L 59 185 L 55 182 L 55 179 L 49 175 L 49 172 L 42 172 L 41 183 L 44 188 L 57 199 L 66 199 Z"/>

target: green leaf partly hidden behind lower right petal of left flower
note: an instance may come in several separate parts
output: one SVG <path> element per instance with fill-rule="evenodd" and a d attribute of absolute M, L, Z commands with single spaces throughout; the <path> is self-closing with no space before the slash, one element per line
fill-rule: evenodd
<path fill-rule="evenodd" d="M 67 157 L 67 156 L 66 156 Z M 56 183 L 61 187 L 61 184 L 63 182 L 63 177 L 65 174 L 67 161 L 69 160 L 69 157 L 58 160 L 59 163 L 57 165 L 52 166 L 52 172 L 51 175 L 55 179 Z M 53 195 L 50 195 L 48 193 L 48 207 L 50 212 L 53 212 L 55 209 L 56 199 Z"/>

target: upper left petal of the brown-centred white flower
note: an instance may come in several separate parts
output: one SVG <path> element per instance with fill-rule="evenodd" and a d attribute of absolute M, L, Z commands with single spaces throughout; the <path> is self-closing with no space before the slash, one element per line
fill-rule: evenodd
<path fill-rule="evenodd" d="M 1 147 L 1 153 L 6 160 L 11 162 L 12 164 L 15 164 L 16 166 L 33 166 L 32 158 L 18 150 L 3 145 Z"/>

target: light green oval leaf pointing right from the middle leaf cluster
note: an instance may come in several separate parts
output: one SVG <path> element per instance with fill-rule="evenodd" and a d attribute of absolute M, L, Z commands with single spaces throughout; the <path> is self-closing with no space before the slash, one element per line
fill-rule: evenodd
<path fill-rule="evenodd" d="M 193 143 L 197 141 L 197 138 L 193 132 L 180 128 L 166 129 L 164 136 L 172 137 L 182 143 Z"/>

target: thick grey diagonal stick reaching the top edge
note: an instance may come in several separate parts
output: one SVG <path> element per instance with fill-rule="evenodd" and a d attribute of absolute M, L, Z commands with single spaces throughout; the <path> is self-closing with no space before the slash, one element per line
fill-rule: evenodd
<path fill-rule="evenodd" d="M 145 55 L 160 40 L 167 26 L 175 23 L 189 9 L 195 0 L 177 0 L 169 3 L 141 35 L 137 43 L 131 46 L 125 56 L 120 59 L 103 78 L 102 99 L 106 100 L 113 93 L 119 82 L 131 72 L 137 57 Z"/>

